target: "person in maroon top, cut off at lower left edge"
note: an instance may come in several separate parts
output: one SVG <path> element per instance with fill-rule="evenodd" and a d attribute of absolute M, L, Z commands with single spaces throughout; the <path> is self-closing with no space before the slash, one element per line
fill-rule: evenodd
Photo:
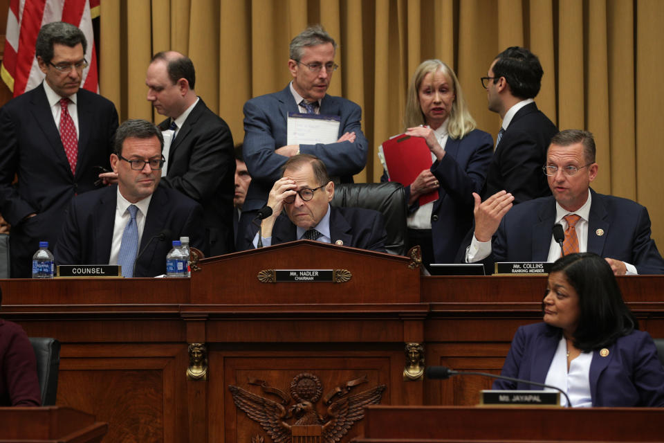
<path fill-rule="evenodd" d="M 0 318 L 0 406 L 41 405 L 33 346 L 22 327 Z"/>

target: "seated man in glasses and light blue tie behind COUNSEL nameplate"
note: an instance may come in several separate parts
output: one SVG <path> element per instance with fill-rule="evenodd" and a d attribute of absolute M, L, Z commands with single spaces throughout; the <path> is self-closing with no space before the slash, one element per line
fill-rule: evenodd
<path fill-rule="evenodd" d="M 154 277 L 166 273 L 174 239 L 189 237 L 191 246 L 208 253 L 203 208 L 159 186 L 163 147 L 152 123 L 120 125 L 111 154 L 118 185 L 73 199 L 53 253 L 57 264 L 120 264 L 124 277 Z"/>

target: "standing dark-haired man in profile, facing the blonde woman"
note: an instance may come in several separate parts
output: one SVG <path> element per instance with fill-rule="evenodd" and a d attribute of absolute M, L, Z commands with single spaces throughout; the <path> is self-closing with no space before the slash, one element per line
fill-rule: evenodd
<path fill-rule="evenodd" d="M 540 168 L 558 129 L 535 105 L 543 74 L 535 54 L 513 46 L 497 55 L 487 76 L 481 78 L 489 110 L 503 120 L 481 192 L 483 199 L 500 190 L 510 192 L 514 204 L 551 195 Z"/>

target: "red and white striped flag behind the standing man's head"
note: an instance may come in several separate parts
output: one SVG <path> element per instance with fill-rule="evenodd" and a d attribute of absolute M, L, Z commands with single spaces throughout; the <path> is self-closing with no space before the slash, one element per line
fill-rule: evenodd
<path fill-rule="evenodd" d="M 82 87 L 98 92 L 97 55 L 92 30 L 92 14 L 99 15 L 100 0 L 11 0 L 7 15 L 5 53 L 0 76 L 14 96 L 37 87 L 44 80 L 35 57 L 39 29 L 53 21 L 78 26 L 88 41 Z M 91 8 L 92 11 L 91 12 Z"/>

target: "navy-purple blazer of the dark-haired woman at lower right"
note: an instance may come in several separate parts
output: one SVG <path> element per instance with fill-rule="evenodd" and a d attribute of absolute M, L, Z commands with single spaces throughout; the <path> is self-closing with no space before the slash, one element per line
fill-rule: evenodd
<path fill-rule="evenodd" d="M 561 332 L 546 323 L 522 326 L 512 341 L 501 375 L 544 383 Z M 647 332 L 632 331 L 607 347 L 609 355 L 593 352 L 590 393 L 593 406 L 664 406 L 664 368 Z M 497 380 L 494 389 L 541 389 L 526 383 Z"/>

